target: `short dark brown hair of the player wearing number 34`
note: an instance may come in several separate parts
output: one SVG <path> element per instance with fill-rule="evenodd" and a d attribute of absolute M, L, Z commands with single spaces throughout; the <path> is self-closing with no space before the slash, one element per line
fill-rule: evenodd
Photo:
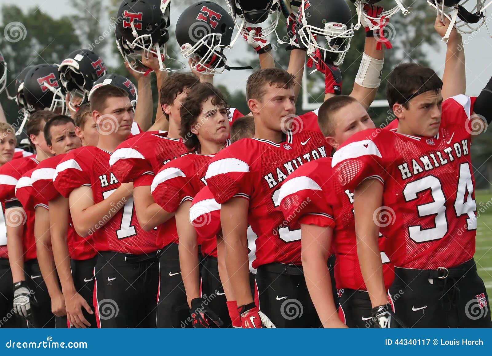
<path fill-rule="evenodd" d="M 397 65 L 388 76 L 386 84 L 386 98 L 390 109 L 395 103 L 400 103 L 408 109 L 408 101 L 416 93 L 442 89 L 442 80 L 431 69 L 416 63 Z"/>

